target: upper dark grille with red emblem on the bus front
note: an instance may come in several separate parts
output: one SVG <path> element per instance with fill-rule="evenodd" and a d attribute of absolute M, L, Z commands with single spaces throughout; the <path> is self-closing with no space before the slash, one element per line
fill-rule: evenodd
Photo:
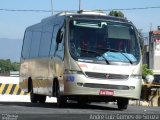
<path fill-rule="evenodd" d="M 128 79 L 129 75 L 85 72 L 88 77 L 101 79 Z"/>

